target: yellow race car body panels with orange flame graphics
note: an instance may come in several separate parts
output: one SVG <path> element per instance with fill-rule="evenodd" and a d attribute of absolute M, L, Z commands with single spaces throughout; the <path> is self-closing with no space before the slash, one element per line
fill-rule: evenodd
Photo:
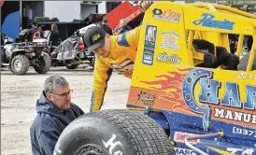
<path fill-rule="evenodd" d="M 192 44 L 194 39 L 204 39 L 213 43 L 215 47 L 220 46 L 230 52 L 228 34 L 239 35 L 235 54 L 240 57 L 244 36 L 252 35 L 256 40 L 255 27 L 255 15 L 232 7 L 172 2 L 153 4 L 145 13 L 142 23 L 127 108 L 142 110 L 150 106 L 156 111 L 168 110 L 200 116 L 184 104 L 182 83 L 184 84 L 184 77 L 193 69 L 205 69 L 212 72 L 211 79 L 220 82 L 217 90 L 220 103 L 209 104 L 212 112 L 211 119 L 255 128 L 256 119 L 253 117 L 256 117 L 256 104 L 252 109 L 243 108 L 250 93 L 247 92 L 246 85 L 256 87 L 256 71 L 251 70 L 255 56 L 255 42 L 251 48 L 246 72 L 227 70 L 224 65 L 218 68 L 197 66 L 203 63 L 204 52 L 196 51 Z M 221 105 L 225 94 L 235 92 L 230 89 L 228 90 L 230 92 L 227 92 L 226 82 L 237 84 L 241 107 L 238 108 L 232 104 Z M 193 89 L 193 97 L 197 105 L 206 107 L 208 103 L 202 103 L 199 100 L 201 93 L 202 84 L 198 81 Z M 216 117 L 214 110 L 217 108 L 232 111 L 233 114 L 243 112 L 253 117 L 249 122 L 237 121 L 235 116 L 232 116 L 233 119 L 232 117 Z"/>

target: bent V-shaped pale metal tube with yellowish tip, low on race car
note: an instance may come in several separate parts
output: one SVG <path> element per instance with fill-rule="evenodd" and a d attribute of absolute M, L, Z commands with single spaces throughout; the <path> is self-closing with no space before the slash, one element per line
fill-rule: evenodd
<path fill-rule="evenodd" d="M 212 137 L 217 137 L 217 136 L 222 137 L 222 136 L 224 136 L 224 133 L 223 132 L 218 132 L 216 134 L 197 134 L 197 135 L 187 136 L 185 138 L 185 145 L 188 148 L 191 148 L 195 152 L 199 153 L 200 155 L 209 155 L 206 152 L 204 152 L 203 150 L 194 147 L 189 141 L 194 140 L 194 139 L 206 139 L 206 138 L 212 138 Z"/>

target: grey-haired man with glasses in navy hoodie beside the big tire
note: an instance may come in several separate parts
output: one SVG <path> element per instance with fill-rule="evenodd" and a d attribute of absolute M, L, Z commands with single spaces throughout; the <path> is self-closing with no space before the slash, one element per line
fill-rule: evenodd
<path fill-rule="evenodd" d="M 44 91 L 36 103 L 37 116 L 30 128 L 34 155 L 52 155 L 64 128 L 84 112 L 71 103 L 71 93 L 64 77 L 53 75 L 46 79 Z"/>

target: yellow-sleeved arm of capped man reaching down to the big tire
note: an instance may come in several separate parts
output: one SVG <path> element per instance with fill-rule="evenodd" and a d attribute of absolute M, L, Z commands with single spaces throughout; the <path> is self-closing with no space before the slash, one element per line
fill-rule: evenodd
<path fill-rule="evenodd" d="M 107 81 L 112 75 L 112 71 L 112 68 L 108 67 L 97 56 L 95 56 L 90 112 L 101 109 L 105 92 L 107 91 Z"/>

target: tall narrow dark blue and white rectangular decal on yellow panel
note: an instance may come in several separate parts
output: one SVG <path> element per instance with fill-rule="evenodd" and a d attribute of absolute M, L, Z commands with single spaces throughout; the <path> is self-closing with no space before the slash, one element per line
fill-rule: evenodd
<path fill-rule="evenodd" d="M 153 25 L 147 25 L 146 35 L 144 42 L 143 58 L 142 63 L 147 65 L 153 64 L 153 57 L 155 51 L 157 27 Z"/>

